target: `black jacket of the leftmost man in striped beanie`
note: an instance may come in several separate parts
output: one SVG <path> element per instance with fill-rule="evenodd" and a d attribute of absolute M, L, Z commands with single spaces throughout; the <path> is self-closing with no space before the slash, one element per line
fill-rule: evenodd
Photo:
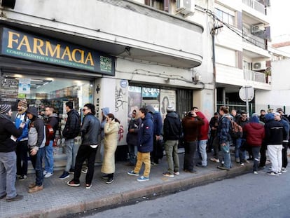
<path fill-rule="evenodd" d="M 0 114 L 0 123 L 0 152 L 15 151 L 17 143 L 11 139 L 11 135 L 20 137 L 22 128 L 16 128 L 11 118 L 5 114 Z"/>

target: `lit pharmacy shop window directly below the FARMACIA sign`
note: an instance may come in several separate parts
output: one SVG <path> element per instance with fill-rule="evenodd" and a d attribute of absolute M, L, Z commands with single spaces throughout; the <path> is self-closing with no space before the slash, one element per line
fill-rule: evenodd
<path fill-rule="evenodd" d="M 93 99 L 92 82 L 78 79 L 3 74 L 0 90 L 0 104 L 11 104 L 13 111 L 16 111 L 18 100 L 26 99 L 29 107 L 39 109 L 41 116 L 44 116 L 46 106 L 55 107 L 61 117 L 66 114 L 65 102 L 72 101 L 74 108 L 80 109 L 83 104 L 92 102 Z"/>

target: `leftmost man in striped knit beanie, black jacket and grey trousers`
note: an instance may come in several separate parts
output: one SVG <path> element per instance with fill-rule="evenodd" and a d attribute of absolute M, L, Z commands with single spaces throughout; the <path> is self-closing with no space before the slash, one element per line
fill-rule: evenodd
<path fill-rule="evenodd" d="M 16 128 L 11 121 L 11 105 L 0 104 L 0 199 L 21 200 L 15 189 L 16 180 L 16 140 L 22 135 L 25 123 Z"/>

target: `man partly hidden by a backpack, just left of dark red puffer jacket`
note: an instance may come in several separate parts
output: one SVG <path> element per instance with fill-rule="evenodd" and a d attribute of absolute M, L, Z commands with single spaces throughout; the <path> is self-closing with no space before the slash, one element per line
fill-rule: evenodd
<path fill-rule="evenodd" d="M 249 118 L 247 116 L 246 111 L 241 112 L 240 118 L 237 119 L 237 125 L 240 125 L 242 128 L 244 128 L 244 125 L 249 123 Z M 244 165 L 244 163 L 249 163 L 246 158 L 246 151 L 242 151 L 241 147 L 246 143 L 246 135 L 244 132 L 242 133 L 241 137 L 238 137 L 235 142 L 235 162 L 240 163 L 241 166 Z"/>

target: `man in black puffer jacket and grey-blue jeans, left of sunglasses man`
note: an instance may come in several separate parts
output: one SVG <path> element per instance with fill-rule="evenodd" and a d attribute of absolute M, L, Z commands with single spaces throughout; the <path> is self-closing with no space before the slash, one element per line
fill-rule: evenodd
<path fill-rule="evenodd" d="M 78 111 L 73 108 L 73 102 L 67 102 L 65 106 L 67 123 L 65 123 L 64 130 L 62 130 L 62 135 L 64 136 L 66 144 L 67 165 L 62 175 L 60 175 L 60 179 L 66 179 L 69 177 L 69 172 L 74 172 L 77 152 L 74 146 L 74 138 L 78 136 L 81 127 L 80 116 L 78 115 Z"/>

